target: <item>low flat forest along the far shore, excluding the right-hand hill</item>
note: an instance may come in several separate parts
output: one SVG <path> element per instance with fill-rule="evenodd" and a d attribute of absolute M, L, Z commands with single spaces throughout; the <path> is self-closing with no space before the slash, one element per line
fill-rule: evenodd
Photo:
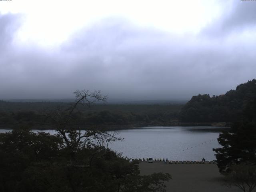
<path fill-rule="evenodd" d="M 46 113 L 65 110 L 72 103 L 0 101 L 2 128 L 29 127 L 47 129 L 52 122 Z M 76 124 L 84 128 L 130 128 L 133 126 L 169 125 L 178 122 L 183 104 L 94 104 L 79 106 L 74 114 Z"/>

